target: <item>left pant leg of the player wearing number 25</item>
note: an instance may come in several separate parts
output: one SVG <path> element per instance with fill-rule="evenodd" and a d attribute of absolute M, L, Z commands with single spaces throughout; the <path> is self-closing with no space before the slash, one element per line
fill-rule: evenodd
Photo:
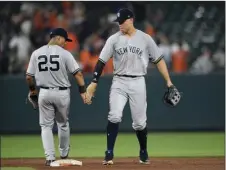
<path fill-rule="evenodd" d="M 55 147 L 53 139 L 54 107 L 51 105 L 51 96 L 48 91 L 41 90 L 39 94 L 39 124 L 41 126 L 42 144 L 46 160 L 55 160 Z"/>

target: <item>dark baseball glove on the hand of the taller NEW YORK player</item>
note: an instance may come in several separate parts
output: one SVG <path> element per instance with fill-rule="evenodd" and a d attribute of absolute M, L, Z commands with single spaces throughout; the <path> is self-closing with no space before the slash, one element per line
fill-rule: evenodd
<path fill-rule="evenodd" d="M 171 107 L 175 107 L 181 100 L 182 93 L 177 90 L 177 88 L 172 85 L 168 87 L 163 97 L 163 102 Z"/>

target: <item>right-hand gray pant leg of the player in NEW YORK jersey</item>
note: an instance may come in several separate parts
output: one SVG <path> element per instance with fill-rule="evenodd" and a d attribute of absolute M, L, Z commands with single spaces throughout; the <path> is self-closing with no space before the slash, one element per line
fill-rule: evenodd
<path fill-rule="evenodd" d="M 143 130 L 147 123 L 147 98 L 146 84 L 143 77 L 130 82 L 129 104 L 132 115 L 134 130 Z"/>

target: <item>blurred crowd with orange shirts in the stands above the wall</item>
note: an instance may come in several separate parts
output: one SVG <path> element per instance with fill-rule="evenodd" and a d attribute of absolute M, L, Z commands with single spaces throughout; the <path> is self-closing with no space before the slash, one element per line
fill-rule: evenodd
<path fill-rule="evenodd" d="M 33 50 L 63 27 L 70 51 L 84 74 L 93 71 L 106 39 L 118 31 L 112 20 L 122 7 L 135 13 L 135 26 L 151 35 L 171 72 L 208 74 L 225 68 L 224 4 L 157 2 L 0 2 L 0 74 L 26 71 Z M 223 15 L 222 15 L 223 14 Z M 109 60 L 103 74 L 112 74 Z M 150 64 L 151 72 L 155 67 Z"/>

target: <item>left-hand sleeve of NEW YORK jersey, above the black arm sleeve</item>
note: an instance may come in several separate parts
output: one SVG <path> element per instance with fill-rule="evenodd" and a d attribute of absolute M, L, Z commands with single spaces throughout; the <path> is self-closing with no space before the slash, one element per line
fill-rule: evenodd
<path fill-rule="evenodd" d="M 112 57 L 112 55 L 113 55 L 113 38 L 110 37 L 107 39 L 100 53 L 99 60 L 105 64 Z"/>

